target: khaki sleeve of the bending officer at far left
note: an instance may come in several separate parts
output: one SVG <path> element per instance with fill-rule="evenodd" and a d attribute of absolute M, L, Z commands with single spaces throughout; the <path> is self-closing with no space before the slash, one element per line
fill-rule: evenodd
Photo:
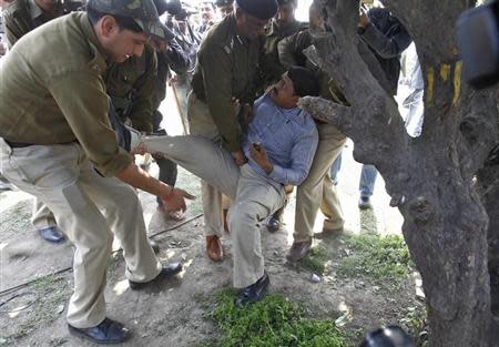
<path fill-rule="evenodd" d="M 109 120 L 104 82 L 94 70 L 70 72 L 48 81 L 80 145 L 103 176 L 114 176 L 132 163 L 132 155 L 118 146 Z"/>

